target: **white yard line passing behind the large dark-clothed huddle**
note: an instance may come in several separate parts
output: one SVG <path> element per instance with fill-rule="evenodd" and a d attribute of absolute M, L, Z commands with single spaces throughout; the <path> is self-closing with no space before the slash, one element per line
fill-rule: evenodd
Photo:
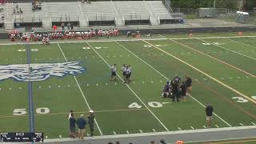
<path fill-rule="evenodd" d="M 118 43 L 118 42 L 117 42 Z M 118 43 L 119 46 L 122 46 L 120 43 Z M 163 78 L 166 78 L 166 80 L 169 80 L 169 78 L 167 78 L 165 75 L 163 75 L 160 71 L 156 70 L 153 66 L 151 66 L 150 64 L 148 64 L 147 62 L 145 62 L 144 60 L 142 60 L 142 58 L 139 58 L 138 55 L 134 54 L 133 52 L 131 52 L 130 50 L 128 50 L 125 46 L 122 46 L 123 49 L 127 50 L 130 52 L 130 54 L 133 54 L 136 58 L 138 58 L 139 60 L 141 60 L 142 62 L 144 62 L 147 66 L 150 66 L 150 68 L 152 68 L 154 71 L 156 71 L 158 74 L 160 74 Z M 195 102 L 198 102 L 201 106 L 203 106 L 204 108 L 206 108 L 205 105 L 202 104 L 202 102 L 199 102 L 196 98 L 194 98 L 192 95 L 190 95 L 191 98 L 194 99 Z M 216 117 L 218 117 L 220 120 L 222 120 L 222 122 L 225 122 L 227 126 L 231 126 L 228 122 L 226 122 L 224 119 L 222 119 L 221 117 L 218 116 L 218 114 L 214 115 Z"/>

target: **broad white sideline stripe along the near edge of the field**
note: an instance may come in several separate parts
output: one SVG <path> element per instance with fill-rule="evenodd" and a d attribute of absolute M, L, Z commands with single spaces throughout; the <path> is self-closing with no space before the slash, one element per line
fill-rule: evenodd
<path fill-rule="evenodd" d="M 94 136 L 92 138 L 86 139 L 109 139 L 109 138 L 136 138 L 143 136 L 158 136 L 166 134 L 194 134 L 194 133 L 204 133 L 204 132 L 218 132 L 218 131 L 230 131 L 230 130 L 250 130 L 256 129 L 256 126 L 234 126 L 234 127 L 222 127 L 222 128 L 209 128 L 209 129 L 198 129 L 198 130 L 177 130 L 177 131 L 165 131 L 165 132 L 155 132 L 155 133 L 138 133 L 138 134 L 117 134 L 117 135 L 103 135 Z M 153 129 L 154 130 L 154 129 Z M 250 137 L 255 138 L 255 137 Z M 53 138 L 46 139 L 45 142 L 66 142 L 66 141 L 80 141 L 78 139 L 71 138 Z"/>

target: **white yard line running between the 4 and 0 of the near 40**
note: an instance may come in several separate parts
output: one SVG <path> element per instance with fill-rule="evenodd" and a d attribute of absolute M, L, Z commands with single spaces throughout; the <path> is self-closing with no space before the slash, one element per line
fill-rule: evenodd
<path fill-rule="evenodd" d="M 86 43 L 87 43 L 88 46 L 90 46 L 90 43 L 89 43 L 89 42 L 86 42 Z M 92 50 L 94 50 L 94 48 L 93 48 L 92 46 L 90 46 L 90 48 L 91 48 Z M 98 54 L 98 52 L 97 52 L 96 50 L 94 50 L 94 52 L 95 52 L 96 54 Z M 99 58 L 102 58 L 102 56 L 101 56 L 100 54 L 98 54 L 98 56 L 99 56 Z M 110 64 L 109 64 L 108 62 L 106 62 L 106 60 L 105 60 L 104 58 L 102 58 L 102 60 L 106 63 L 107 66 L 111 67 Z M 120 77 L 120 75 L 119 75 L 119 74 L 117 74 L 117 75 L 118 75 L 118 78 L 120 78 L 121 81 L 124 82 L 123 79 Z M 142 102 L 142 104 L 146 107 L 146 109 L 150 111 L 150 113 L 154 116 L 154 118 L 156 118 L 156 119 L 158 120 L 158 122 L 160 122 L 160 124 L 161 124 L 167 131 L 169 131 L 169 130 L 167 129 L 167 127 L 160 121 L 160 119 L 152 112 L 152 110 L 150 110 L 150 108 L 149 108 L 148 106 L 146 106 L 146 104 L 142 101 L 142 99 L 138 97 L 138 94 L 136 94 L 136 93 L 134 92 L 134 90 L 132 90 L 132 89 L 130 88 L 129 85 L 127 85 L 127 84 L 125 84 L 125 85 L 126 85 L 126 86 L 128 87 L 128 89 L 138 98 L 138 100 L 139 100 L 140 102 Z"/>

